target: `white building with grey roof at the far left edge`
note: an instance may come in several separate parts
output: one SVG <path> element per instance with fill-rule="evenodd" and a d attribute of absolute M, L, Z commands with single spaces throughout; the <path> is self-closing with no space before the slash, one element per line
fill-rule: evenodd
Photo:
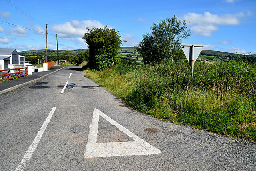
<path fill-rule="evenodd" d="M 8 64 L 24 64 L 25 57 L 16 49 L 0 49 L 0 70 L 8 69 Z"/>

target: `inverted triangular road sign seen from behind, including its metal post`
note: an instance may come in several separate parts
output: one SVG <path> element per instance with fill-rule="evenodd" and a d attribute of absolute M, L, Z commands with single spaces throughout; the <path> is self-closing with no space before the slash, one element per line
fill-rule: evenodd
<path fill-rule="evenodd" d="M 180 44 L 190 66 L 191 66 L 191 76 L 193 77 L 194 73 L 194 63 L 196 62 L 197 57 L 202 51 L 203 44 Z"/>

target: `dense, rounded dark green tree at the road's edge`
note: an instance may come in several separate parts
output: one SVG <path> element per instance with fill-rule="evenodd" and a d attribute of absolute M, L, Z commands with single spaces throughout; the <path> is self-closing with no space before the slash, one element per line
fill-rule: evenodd
<path fill-rule="evenodd" d="M 112 66 L 112 62 L 120 61 L 118 56 L 122 44 L 119 31 L 104 26 L 103 28 L 86 28 L 83 39 L 89 48 L 88 66 L 96 70 L 103 70 Z"/>

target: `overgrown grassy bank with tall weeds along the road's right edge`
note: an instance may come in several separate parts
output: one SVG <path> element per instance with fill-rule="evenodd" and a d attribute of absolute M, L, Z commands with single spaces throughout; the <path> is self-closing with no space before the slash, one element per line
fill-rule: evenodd
<path fill-rule="evenodd" d="M 85 70 L 139 111 L 214 133 L 256 140 L 256 66 L 243 60 Z"/>

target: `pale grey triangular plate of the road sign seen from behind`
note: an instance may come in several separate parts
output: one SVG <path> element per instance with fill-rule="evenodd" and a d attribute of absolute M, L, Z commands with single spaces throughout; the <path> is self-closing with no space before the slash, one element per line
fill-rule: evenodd
<path fill-rule="evenodd" d="M 184 54 L 186 55 L 186 58 L 188 59 L 188 62 L 190 63 L 190 60 L 192 59 L 192 45 L 194 45 L 194 62 L 196 62 L 197 57 L 199 56 L 200 52 L 202 51 L 204 45 L 203 44 L 180 44 Z"/>

